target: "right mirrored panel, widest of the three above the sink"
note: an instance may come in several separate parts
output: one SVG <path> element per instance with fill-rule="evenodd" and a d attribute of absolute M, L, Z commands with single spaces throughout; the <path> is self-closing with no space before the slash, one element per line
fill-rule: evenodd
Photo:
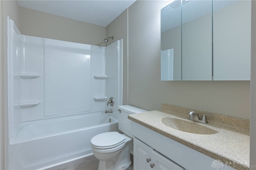
<path fill-rule="evenodd" d="M 213 10 L 213 80 L 250 80 L 251 1 L 214 0 Z"/>

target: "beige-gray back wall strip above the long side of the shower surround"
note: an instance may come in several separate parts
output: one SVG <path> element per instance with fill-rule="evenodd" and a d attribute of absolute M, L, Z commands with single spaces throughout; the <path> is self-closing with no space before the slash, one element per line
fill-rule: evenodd
<path fill-rule="evenodd" d="M 24 35 L 106 46 L 106 27 L 20 7 L 20 32 Z"/>

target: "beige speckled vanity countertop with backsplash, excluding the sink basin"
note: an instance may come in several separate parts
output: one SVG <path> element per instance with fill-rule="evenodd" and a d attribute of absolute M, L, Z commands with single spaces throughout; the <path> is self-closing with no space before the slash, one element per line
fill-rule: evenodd
<path fill-rule="evenodd" d="M 160 111 L 133 114 L 128 118 L 211 158 L 222 160 L 224 164 L 228 164 L 232 168 L 249 170 L 250 125 L 248 119 L 190 109 L 196 111 L 200 117 L 205 113 L 213 114 L 207 117 L 207 124 L 199 123 L 218 131 L 212 135 L 187 133 L 162 123 L 164 117 L 188 120 L 188 112 L 185 109 L 190 108 L 162 104 Z"/>

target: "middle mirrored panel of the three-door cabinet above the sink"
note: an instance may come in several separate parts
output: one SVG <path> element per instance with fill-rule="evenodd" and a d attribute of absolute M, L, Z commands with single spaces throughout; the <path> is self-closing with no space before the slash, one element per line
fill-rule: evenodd
<path fill-rule="evenodd" d="M 212 1 L 182 4 L 182 80 L 212 80 Z"/>

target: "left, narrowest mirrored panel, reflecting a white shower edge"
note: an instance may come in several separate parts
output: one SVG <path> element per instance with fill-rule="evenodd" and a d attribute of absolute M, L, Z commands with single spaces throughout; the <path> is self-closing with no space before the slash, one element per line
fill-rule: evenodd
<path fill-rule="evenodd" d="M 161 10 L 161 80 L 182 80 L 181 6 Z"/>

